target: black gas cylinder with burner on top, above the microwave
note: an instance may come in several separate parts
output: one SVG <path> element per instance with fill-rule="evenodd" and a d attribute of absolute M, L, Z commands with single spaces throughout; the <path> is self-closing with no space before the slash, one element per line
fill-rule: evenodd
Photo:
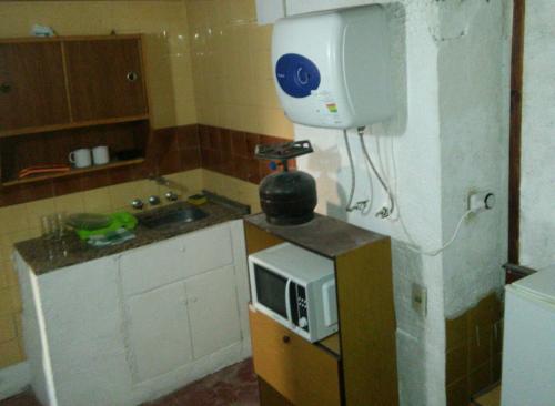
<path fill-rule="evenodd" d="M 311 221 L 317 203 L 316 182 L 306 172 L 290 171 L 287 160 L 313 152 L 310 141 L 256 145 L 255 156 L 281 161 L 282 172 L 262 180 L 259 195 L 266 220 L 276 225 L 294 225 Z"/>

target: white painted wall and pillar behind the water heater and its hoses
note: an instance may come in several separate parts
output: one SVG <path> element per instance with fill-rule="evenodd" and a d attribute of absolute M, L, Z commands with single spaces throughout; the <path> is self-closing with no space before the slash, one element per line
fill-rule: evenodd
<path fill-rule="evenodd" d="M 289 14 L 377 1 L 287 1 Z M 299 168 L 316 177 L 317 211 L 391 235 L 397 317 L 397 364 L 402 405 L 445 404 L 445 317 L 472 306 L 501 286 L 505 260 L 508 93 L 504 31 L 508 1 L 387 2 L 393 35 L 397 114 L 366 131 L 371 155 L 397 199 L 391 220 L 374 213 L 386 202 L 369 174 L 359 139 L 350 132 L 356 162 L 355 201 L 372 196 L 366 213 L 345 213 L 350 168 L 342 133 L 295 125 L 315 153 Z M 464 34 L 461 35 L 461 33 Z M 483 72 L 481 72 L 483 70 Z M 462 92 L 462 97 L 460 97 Z M 492 189 L 495 211 L 463 225 L 455 245 L 435 257 L 428 251 L 450 238 L 466 210 L 470 190 Z M 428 292 L 428 313 L 412 309 L 411 286 Z"/>

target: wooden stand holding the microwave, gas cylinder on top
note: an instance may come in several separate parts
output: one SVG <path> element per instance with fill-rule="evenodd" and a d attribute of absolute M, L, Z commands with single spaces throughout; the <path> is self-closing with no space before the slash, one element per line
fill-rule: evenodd
<path fill-rule="evenodd" d="M 245 217 L 248 254 L 289 242 L 334 262 L 340 331 L 311 344 L 250 306 L 262 406 L 398 405 L 389 237 L 317 215 L 275 226 Z"/>

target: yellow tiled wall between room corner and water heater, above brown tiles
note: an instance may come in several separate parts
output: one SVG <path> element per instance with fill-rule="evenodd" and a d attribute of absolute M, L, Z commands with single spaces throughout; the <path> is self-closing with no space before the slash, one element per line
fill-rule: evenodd
<path fill-rule="evenodd" d="M 272 82 L 272 26 L 258 26 L 254 0 L 186 0 L 201 124 L 293 138 Z"/>

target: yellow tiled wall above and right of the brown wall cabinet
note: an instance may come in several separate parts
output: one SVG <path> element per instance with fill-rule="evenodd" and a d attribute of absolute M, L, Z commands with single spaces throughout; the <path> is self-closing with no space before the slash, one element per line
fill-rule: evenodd
<path fill-rule="evenodd" d="M 60 35 L 144 34 L 154 128 L 196 123 L 183 1 L 2 1 L 0 38 L 28 37 L 34 23 Z"/>

